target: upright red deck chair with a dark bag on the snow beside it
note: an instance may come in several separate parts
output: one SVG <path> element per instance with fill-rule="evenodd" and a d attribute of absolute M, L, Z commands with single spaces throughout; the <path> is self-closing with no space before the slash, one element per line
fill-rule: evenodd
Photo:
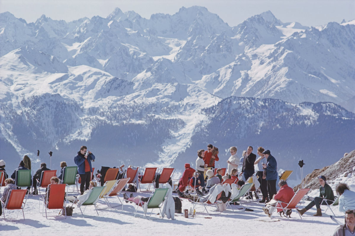
<path fill-rule="evenodd" d="M 50 216 L 55 216 L 55 219 L 66 219 L 66 202 L 64 201 L 64 197 L 65 197 L 65 184 L 55 184 L 55 185 L 51 185 L 49 184 L 47 186 L 48 188 L 50 188 L 49 191 L 49 199 L 47 196 L 47 199 L 45 199 L 45 201 L 43 201 L 43 207 L 45 209 L 45 217 L 48 219 L 48 215 L 47 215 L 47 209 L 64 209 L 65 211 L 65 215 L 63 215 L 62 217 L 58 216 L 58 213 L 56 213 L 55 215 L 50 215 Z M 48 204 L 46 204 L 48 202 Z M 42 214 L 43 215 L 43 214 Z M 44 216 L 44 215 L 43 215 Z"/>

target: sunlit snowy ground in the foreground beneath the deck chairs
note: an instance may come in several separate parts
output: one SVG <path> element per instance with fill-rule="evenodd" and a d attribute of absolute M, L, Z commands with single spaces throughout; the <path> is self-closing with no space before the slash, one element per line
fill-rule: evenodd
<path fill-rule="evenodd" d="M 128 194 L 129 192 L 127 192 Z M 71 195 L 71 194 L 69 194 Z M 147 196 L 147 193 L 134 193 L 135 196 Z M 312 195 L 312 194 L 311 194 Z M 313 195 L 317 195 L 314 192 Z M 112 202 L 118 202 L 112 198 Z M 308 204 L 308 201 L 305 202 Z M 29 196 L 24 208 L 25 221 L 0 220 L 0 235 L 104 235 L 116 232 L 116 235 L 195 235 L 198 232 L 208 232 L 209 235 L 332 235 L 337 225 L 329 218 L 331 211 L 328 210 L 322 217 L 312 216 L 315 208 L 312 208 L 300 219 L 296 212 L 291 214 L 291 220 L 273 214 L 270 219 L 262 211 L 263 204 L 257 201 L 245 203 L 253 212 L 236 210 L 233 213 L 228 208 L 222 214 L 208 215 L 198 208 L 195 217 L 184 218 L 182 214 L 175 214 L 175 220 L 162 219 L 153 214 L 151 219 L 133 217 L 133 205 L 124 203 L 123 211 L 118 209 L 99 210 L 99 216 L 83 218 L 79 209 L 75 208 L 73 216 L 65 220 L 47 220 L 39 213 L 39 196 Z M 104 207 L 99 204 L 99 208 Z M 182 209 L 190 209 L 191 204 L 186 200 Z M 233 206 L 239 207 L 239 206 Z M 323 212 L 325 206 L 322 207 Z M 214 207 L 208 208 L 210 213 L 216 213 Z M 344 214 L 332 207 L 337 219 L 344 221 Z M 57 212 L 58 213 L 58 212 Z M 86 213 L 93 214 L 94 208 L 88 207 Z M 142 212 L 141 212 L 142 213 Z M 155 209 L 153 213 L 158 213 Z M 140 214 L 142 215 L 142 214 Z M 262 220 L 270 221 L 265 222 Z"/>

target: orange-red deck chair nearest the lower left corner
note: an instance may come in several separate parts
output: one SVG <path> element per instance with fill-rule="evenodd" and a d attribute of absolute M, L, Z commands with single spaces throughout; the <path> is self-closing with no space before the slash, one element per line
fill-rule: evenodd
<path fill-rule="evenodd" d="M 10 196 L 9 196 L 9 194 L 10 194 Z M 7 198 L 6 198 L 7 200 L 5 203 L 1 201 L 2 209 L 4 209 L 4 212 L 2 213 L 2 214 L 4 214 L 4 219 L 6 220 L 5 209 L 7 209 L 7 210 L 18 210 L 18 211 L 22 210 L 22 215 L 23 215 L 23 220 L 24 220 L 23 207 L 24 207 L 26 201 L 23 201 L 23 200 L 24 200 L 25 196 L 28 196 L 28 194 L 26 194 L 26 189 L 14 189 L 14 190 L 11 190 L 9 192 L 9 194 L 7 195 Z M 7 219 L 17 219 L 17 216 L 18 216 L 18 212 L 17 212 L 16 218 L 7 218 Z"/>

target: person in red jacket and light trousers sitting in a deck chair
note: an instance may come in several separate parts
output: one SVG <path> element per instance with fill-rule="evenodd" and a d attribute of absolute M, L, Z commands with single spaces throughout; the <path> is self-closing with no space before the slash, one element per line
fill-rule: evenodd
<path fill-rule="evenodd" d="M 263 207 L 263 211 L 265 214 L 267 214 L 269 217 L 271 217 L 271 214 L 273 213 L 275 207 L 277 207 L 277 212 L 282 212 L 282 207 L 286 207 L 286 205 L 291 201 L 292 197 L 294 196 L 295 192 L 291 187 L 287 185 L 286 180 L 280 180 L 279 181 L 279 191 L 273 196 L 272 200 L 266 204 L 266 207 Z M 278 201 L 281 201 L 278 203 Z M 286 215 L 290 215 L 291 212 L 286 213 Z M 281 213 L 280 213 L 281 215 Z"/>

